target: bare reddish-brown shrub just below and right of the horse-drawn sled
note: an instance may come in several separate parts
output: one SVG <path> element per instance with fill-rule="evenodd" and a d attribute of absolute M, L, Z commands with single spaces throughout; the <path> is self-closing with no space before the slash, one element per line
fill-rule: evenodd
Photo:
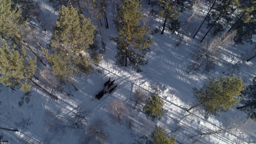
<path fill-rule="evenodd" d="M 112 100 L 109 104 L 109 112 L 110 116 L 114 120 L 121 122 L 124 116 L 128 115 L 129 110 L 126 108 L 123 102 L 119 100 Z"/>

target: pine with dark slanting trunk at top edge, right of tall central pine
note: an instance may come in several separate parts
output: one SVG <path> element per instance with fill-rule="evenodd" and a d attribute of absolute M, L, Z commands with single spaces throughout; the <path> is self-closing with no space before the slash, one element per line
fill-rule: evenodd
<path fill-rule="evenodd" d="M 176 22 L 179 23 L 175 20 L 178 19 L 178 12 L 177 12 L 177 7 L 175 6 L 174 2 L 172 0 L 155 0 L 152 2 L 153 5 L 158 6 L 158 10 L 152 10 L 151 13 L 153 16 L 164 19 L 164 23 L 162 24 L 163 29 L 161 34 L 164 34 L 164 30 L 166 27 L 166 23 L 168 22 Z M 171 26 L 173 24 L 170 24 Z M 173 26 L 173 28 L 176 28 L 176 26 Z M 175 31 L 175 30 L 174 30 Z"/>

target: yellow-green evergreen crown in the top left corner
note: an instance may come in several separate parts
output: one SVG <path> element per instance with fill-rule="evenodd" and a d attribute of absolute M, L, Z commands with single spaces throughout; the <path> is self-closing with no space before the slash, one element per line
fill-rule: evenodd
<path fill-rule="evenodd" d="M 24 36 L 24 21 L 21 17 L 21 10 L 11 0 L 0 2 L 0 36 L 4 39 L 11 38 L 16 44 L 20 36 Z"/>

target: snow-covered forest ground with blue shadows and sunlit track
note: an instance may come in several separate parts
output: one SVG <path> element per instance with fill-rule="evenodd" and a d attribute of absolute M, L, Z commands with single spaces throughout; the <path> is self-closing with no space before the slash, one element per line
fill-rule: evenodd
<path fill-rule="evenodd" d="M 40 1 L 41 2 L 41 1 Z M 40 25 L 34 21 L 36 28 L 33 33 L 43 46 L 47 46 L 51 38 L 51 30 L 58 17 L 50 5 L 41 2 L 43 8 L 40 11 L 39 18 L 47 31 L 43 32 Z M 147 24 L 154 29 L 160 22 L 148 16 L 148 10 L 151 8 L 147 1 L 142 1 L 142 7 L 146 9 L 145 17 Z M 250 44 L 236 45 L 229 47 L 224 54 L 224 58 L 210 73 L 191 72 L 188 74 L 188 68 L 196 60 L 192 56 L 192 51 L 196 50 L 200 44 L 200 38 L 205 30 L 200 30 L 195 39 L 188 41 L 185 36 L 180 46 L 176 46 L 179 39 L 176 35 L 165 32 L 152 35 L 154 44 L 151 47 L 152 52 L 147 56 L 148 65 L 142 66 L 143 72 L 136 73 L 130 67 L 119 68 L 115 65 L 116 46 L 109 40 L 109 36 L 116 36 L 113 16 L 111 16 L 111 6 L 108 9 L 109 29 L 101 28 L 102 36 L 106 46 L 106 55 L 92 74 L 88 76 L 73 77 L 74 85 L 78 88 L 76 91 L 70 84 L 62 85 L 62 91 L 70 94 L 63 94 L 56 90 L 54 86 L 47 83 L 42 84 L 49 92 L 58 97 L 53 100 L 49 95 L 38 88 L 33 88 L 28 104 L 24 101 L 22 106 L 19 102 L 22 100 L 25 92 L 15 91 L 0 84 L 0 127 L 18 129 L 18 132 L 0 130 L 3 140 L 8 140 L 8 144 L 80 144 L 95 143 L 89 141 L 88 129 L 90 126 L 102 124 L 102 129 L 106 134 L 106 143 L 108 144 L 133 144 L 144 134 L 150 134 L 155 124 L 166 126 L 170 133 L 168 136 L 176 135 L 177 141 L 182 144 L 207 143 L 207 144 L 236 144 L 246 141 L 256 141 L 255 122 L 248 122 L 248 126 L 235 132 L 222 132 L 205 136 L 197 136 L 204 132 L 221 130 L 225 126 L 230 127 L 238 122 L 245 122 L 246 114 L 232 108 L 229 112 L 220 114 L 220 116 L 204 116 L 201 111 L 194 112 L 178 122 L 185 113 L 186 108 L 196 104 L 193 98 L 192 88 L 200 88 L 207 77 L 217 77 L 227 74 L 241 76 L 242 80 L 249 84 L 252 78 L 256 76 L 254 63 L 256 59 L 250 62 L 241 62 L 239 69 L 228 70 L 232 64 L 235 64 L 241 57 L 242 60 L 253 56 L 253 46 Z M 186 12 L 187 13 L 187 12 Z M 186 15 L 182 14 L 182 15 Z M 202 17 L 204 13 L 202 13 Z M 182 18 L 181 18 L 182 19 Z M 185 19 L 185 18 L 184 18 Z M 196 24 L 195 24 L 196 25 Z M 197 28 L 197 27 L 194 27 Z M 205 27 L 204 27 L 205 28 Z M 31 37 L 31 36 L 30 36 Z M 100 40 L 100 36 L 97 36 Z M 42 56 L 39 46 L 32 42 L 36 52 Z M 38 48 L 38 50 L 36 49 Z M 46 62 L 46 60 L 44 59 Z M 39 65 L 41 65 L 39 63 Z M 42 70 L 43 66 L 39 66 Z M 50 68 L 50 67 L 48 67 Z M 37 75 L 40 75 L 38 70 Z M 106 94 L 101 100 L 96 100 L 95 95 L 102 90 L 104 82 L 111 78 L 118 84 L 117 89 L 112 94 Z M 42 80 L 43 78 L 40 77 Z M 150 118 L 142 112 L 142 108 L 133 109 L 134 103 L 130 100 L 135 90 L 142 88 L 148 96 L 157 90 L 166 104 L 164 108 L 168 110 L 162 116 L 162 120 L 152 122 Z M 26 98 L 26 96 L 24 97 Z M 129 112 L 122 122 L 116 122 L 110 115 L 109 104 L 113 100 L 119 100 L 125 104 Z M 82 117 L 76 116 L 81 112 Z M 75 120 L 80 120 L 79 128 L 73 128 Z M 85 129 L 83 129 L 84 127 Z M 238 138 L 239 136 L 239 138 Z"/>

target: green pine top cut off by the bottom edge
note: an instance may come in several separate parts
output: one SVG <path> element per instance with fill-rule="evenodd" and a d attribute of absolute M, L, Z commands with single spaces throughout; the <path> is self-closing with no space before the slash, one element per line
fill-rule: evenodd
<path fill-rule="evenodd" d="M 165 126 L 154 126 L 151 132 L 150 139 L 147 140 L 147 144 L 174 144 L 176 142 L 176 136 L 168 137 Z"/>

